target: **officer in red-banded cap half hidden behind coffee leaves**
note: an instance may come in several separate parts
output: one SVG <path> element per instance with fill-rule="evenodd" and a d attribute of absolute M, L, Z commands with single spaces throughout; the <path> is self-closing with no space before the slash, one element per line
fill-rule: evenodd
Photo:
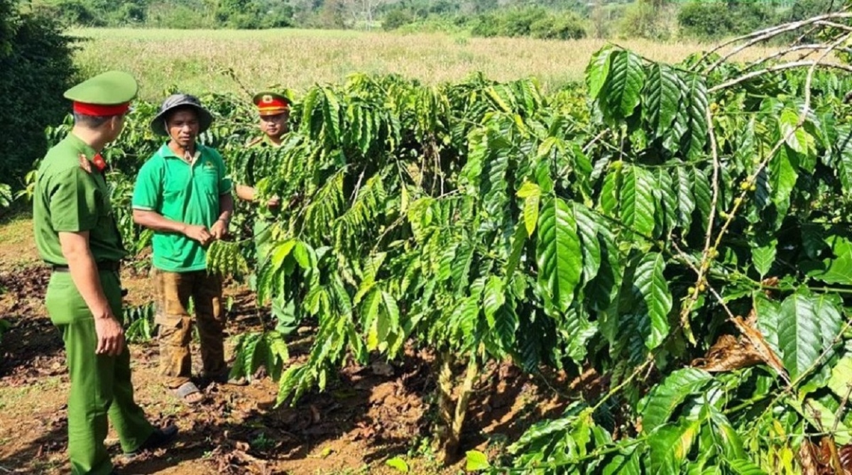
<path fill-rule="evenodd" d="M 254 95 L 252 102 L 257 107 L 257 113 L 260 116 L 260 129 L 263 135 L 250 141 L 248 146 L 280 147 L 283 143 L 284 135 L 289 131 L 288 121 L 290 119 L 291 101 L 284 94 L 274 91 L 262 91 Z M 257 201 L 257 191 L 254 186 L 238 183 L 235 188 L 239 199 L 250 203 Z M 279 197 L 271 197 L 266 204 L 273 214 L 275 210 L 279 209 L 281 200 Z M 255 216 L 253 232 L 255 235 L 258 262 L 262 262 L 266 258 L 271 245 L 269 228 L 272 221 L 269 219 L 270 217 L 267 216 L 265 218 L 262 215 Z"/>

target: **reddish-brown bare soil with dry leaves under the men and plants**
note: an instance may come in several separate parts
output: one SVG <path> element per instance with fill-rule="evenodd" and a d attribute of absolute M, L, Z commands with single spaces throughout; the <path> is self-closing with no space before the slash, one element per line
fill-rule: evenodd
<path fill-rule="evenodd" d="M 0 224 L 0 318 L 12 324 L 0 342 L 0 473 L 70 472 L 68 378 L 60 335 L 43 306 L 48 279 L 32 244 L 31 221 Z M 145 272 L 126 270 L 123 283 L 130 289 L 129 304 L 150 300 Z M 226 293 L 234 302 L 229 334 L 257 329 L 253 296 L 235 285 Z M 309 329 L 305 335 L 309 340 Z M 291 345 L 291 358 L 305 357 L 304 340 Z M 554 392 L 509 364 L 492 368 L 470 405 L 461 458 L 441 467 L 430 448 L 434 381 L 423 353 L 410 350 L 393 366 L 378 361 L 350 366 L 325 392 L 309 393 L 295 407 L 275 408 L 278 386 L 269 378 L 242 387 L 203 386 L 204 402 L 187 406 L 158 382 L 156 342 L 130 345 L 130 352 L 137 402 L 153 422 L 174 423 L 181 433 L 170 448 L 125 461 L 111 432 L 107 445 L 121 473 L 398 473 L 385 463 L 392 457 L 406 461 L 411 473 L 459 473 L 464 450 L 496 455 L 533 422 L 558 415 L 565 403 L 542 396 Z M 193 363 L 197 355 L 196 346 Z M 567 386 L 564 379 L 556 381 Z"/>

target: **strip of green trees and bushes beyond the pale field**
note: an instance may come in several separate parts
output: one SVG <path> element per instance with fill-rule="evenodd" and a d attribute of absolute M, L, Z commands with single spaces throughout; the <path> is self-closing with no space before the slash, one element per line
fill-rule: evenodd
<path fill-rule="evenodd" d="M 837 10 L 835 0 L 30 0 L 69 26 L 462 31 L 480 37 L 714 39 Z"/>

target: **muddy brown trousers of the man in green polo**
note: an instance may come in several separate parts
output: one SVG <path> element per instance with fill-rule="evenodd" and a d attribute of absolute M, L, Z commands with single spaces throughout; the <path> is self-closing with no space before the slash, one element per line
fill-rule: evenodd
<path fill-rule="evenodd" d="M 199 325 L 204 374 L 213 378 L 227 375 L 222 278 L 207 271 L 165 272 L 156 268 L 152 270 L 152 278 L 156 323 L 160 325 L 160 374 L 165 376 L 165 385 L 176 388 L 190 381 L 192 375 L 190 297 L 195 306 L 195 323 Z"/>

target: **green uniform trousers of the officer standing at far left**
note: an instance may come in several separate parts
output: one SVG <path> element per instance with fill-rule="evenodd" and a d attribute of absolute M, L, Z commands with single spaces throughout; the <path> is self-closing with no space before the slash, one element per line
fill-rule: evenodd
<path fill-rule="evenodd" d="M 101 271 L 101 286 L 121 318 L 121 284 L 118 272 Z M 74 475 L 108 474 L 112 461 L 104 446 L 107 415 L 118 432 L 121 448 L 132 452 L 153 432 L 142 409 L 133 400 L 130 349 L 117 357 L 95 354 L 95 319 L 70 272 L 50 276 L 45 303 L 50 321 L 65 341 L 71 391 L 68 396 L 68 455 Z"/>

